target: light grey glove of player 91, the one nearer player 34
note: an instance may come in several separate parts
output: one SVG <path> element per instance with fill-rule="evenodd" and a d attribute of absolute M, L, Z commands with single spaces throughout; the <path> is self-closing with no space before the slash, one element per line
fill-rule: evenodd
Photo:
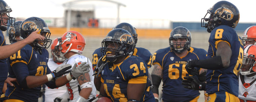
<path fill-rule="evenodd" d="M 77 64 L 75 63 L 70 72 L 70 75 L 71 75 L 72 79 L 75 80 L 80 75 L 82 75 L 84 73 L 88 73 L 90 71 L 89 68 L 90 68 L 90 65 L 87 64 L 86 62 L 81 63 L 79 66 L 77 66 Z"/>

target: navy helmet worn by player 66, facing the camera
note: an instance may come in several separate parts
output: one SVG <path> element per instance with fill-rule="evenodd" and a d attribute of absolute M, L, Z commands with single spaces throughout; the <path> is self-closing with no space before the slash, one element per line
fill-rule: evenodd
<path fill-rule="evenodd" d="M 174 39 L 184 38 L 186 42 L 173 42 Z M 190 50 L 191 33 L 190 31 L 182 26 L 178 26 L 171 31 L 169 44 L 170 48 L 174 53 L 182 53 L 185 50 Z M 182 47 L 182 45 L 184 46 Z"/>

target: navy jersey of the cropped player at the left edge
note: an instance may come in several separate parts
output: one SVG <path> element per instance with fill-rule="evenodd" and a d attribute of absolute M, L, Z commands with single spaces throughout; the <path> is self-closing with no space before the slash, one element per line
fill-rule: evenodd
<path fill-rule="evenodd" d="M 3 32 L 0 30 L 0 46 L 5 45 L 5 38 Z M 8 76 L 7 59 L 0 59 L 0 93 L 2 93 L 4 81 Z"/>

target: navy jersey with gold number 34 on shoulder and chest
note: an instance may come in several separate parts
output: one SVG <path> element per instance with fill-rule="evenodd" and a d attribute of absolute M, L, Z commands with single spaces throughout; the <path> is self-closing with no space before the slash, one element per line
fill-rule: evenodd
<path fill-rule="evenodd" d="M 106 94 L 114 102 L 127 102 L 127 84 L 146 83 L 146 89 L 140 102 L 155 101 L 154 95 L 150 90 L 148 81 L 148 69 L 145 61 L 137 56 L 127 56 L 126 59 L 117 65 L 108 65 L 101 73 L 101 82 L 104 83 Z"/>

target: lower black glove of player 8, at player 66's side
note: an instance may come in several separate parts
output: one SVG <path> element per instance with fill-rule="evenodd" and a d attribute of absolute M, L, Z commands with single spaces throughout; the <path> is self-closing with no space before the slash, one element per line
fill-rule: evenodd
<path fill-rule="evenodd" d="M 194 90 L 205 90 L 206 86 L 206 83 L 200 82 L 195 76 L 184 77 L 181 84 L 184 85 L 184 88 Z"/>

